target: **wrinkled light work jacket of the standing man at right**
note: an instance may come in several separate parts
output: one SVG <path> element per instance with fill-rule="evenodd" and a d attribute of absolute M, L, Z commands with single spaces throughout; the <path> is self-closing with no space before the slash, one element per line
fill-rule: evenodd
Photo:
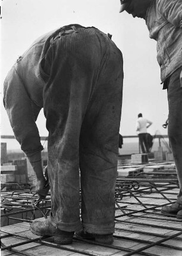
<path fill-rule="evenodd" d="M 157 41 L 157 59 L 161 67 L 161 81 L 164 82 L 182 66 L 182 1 L 152 1 L 146 14 L 146 24 L 150 38 Z"/>

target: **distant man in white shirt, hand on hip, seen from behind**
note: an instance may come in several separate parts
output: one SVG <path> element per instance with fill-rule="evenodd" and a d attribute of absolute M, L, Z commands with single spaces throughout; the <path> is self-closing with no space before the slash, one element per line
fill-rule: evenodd
<path fill-rule="evenodd" d="M 149 153 L 147 128 L 149 128 L 150 125 L 152 125 L 152 122 L 146 118 L 143 118 L 142 113 L 139 113 L 136 123 L 136 131 L 139 135 L 139 143 L 142 153 Z"/>

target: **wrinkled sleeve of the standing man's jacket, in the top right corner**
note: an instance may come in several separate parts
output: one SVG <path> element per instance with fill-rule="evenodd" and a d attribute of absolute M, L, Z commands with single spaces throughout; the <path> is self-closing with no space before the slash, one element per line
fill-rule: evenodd
<path fill-rule="evenodd" d="M 182 28 L 182 1 L 181 0 L 157 0 L 156 6 L 162 17 L 175 27 Z"/>

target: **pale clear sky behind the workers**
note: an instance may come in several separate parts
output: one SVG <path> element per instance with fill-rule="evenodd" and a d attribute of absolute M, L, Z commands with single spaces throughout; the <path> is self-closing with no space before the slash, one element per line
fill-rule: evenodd
<path fill-rule="evenodd" d="M 153 122 L 148 129 L 167 134 L 162 124 L 168 118 L 167 90 L 162 90 L 156 60 L 156 42 L 149 38 L 145 20 L 119 13 L 120 0 L 3 0 L 1 1 L 1 134 L 12 135 L 2 106 L 3 82 L 18 56 L 46 32 L 77 23 L 95 26 L 112 35 L 123 53 L 124 88 L 120 133 L 136 135 L 138 113 Z M 48 135 L 40 112 L 37 127 Z"/>

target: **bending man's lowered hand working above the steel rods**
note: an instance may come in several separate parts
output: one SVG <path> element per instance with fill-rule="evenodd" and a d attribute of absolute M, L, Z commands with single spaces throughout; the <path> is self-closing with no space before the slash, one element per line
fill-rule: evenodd
<path fill-rule="evenodd" d="M 45 167 L 44 175 L 45 177 L 36 178 L 36 193 L 40 201 L 46 198 L 50 189 L 47 166 Z"/>

